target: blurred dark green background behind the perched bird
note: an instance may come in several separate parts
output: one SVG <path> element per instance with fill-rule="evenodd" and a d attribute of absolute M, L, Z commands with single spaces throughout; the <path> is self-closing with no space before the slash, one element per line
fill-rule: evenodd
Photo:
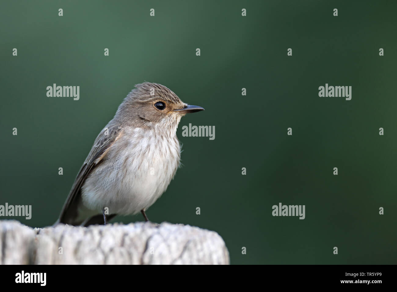
<path fill-rule="evenodd" d="M 397 262 L 395 1 L 0 5 L 0 204 L 33 213 L 15 219 L 56 221 L 96 135 L 150 81 L 205 108 L 179 124 L 184 166 L 151 221 L 215 230 L 232 264 Z M 46 97 L 53 83 L 79 85 L 80 100 Z M 351 101 L 318 97 L 325 83 L 352 86 Z M 182 137 L 189 123 L 215 140 Z M 306 219 L 273 217 L 279 202 L 306 205 Z"/>

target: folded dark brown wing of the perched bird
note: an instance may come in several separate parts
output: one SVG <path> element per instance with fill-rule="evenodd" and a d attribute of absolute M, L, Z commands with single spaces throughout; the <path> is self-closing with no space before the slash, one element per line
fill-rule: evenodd
<path fill-rule="evenodd" d="M 108 135 L 106 135 L 108 129 Z M 123 130 L 119 126 L 111 126 L 104 128 L 96 137 L 94 145 L 81 166 L 79 174 L 77 174 L 72 189 L 66 199 L 64 207 L 58 222 L 64 224 L 80 224 L 75 222 L 77 217 L 77 207 L 81 199 L 81 187 L 83 186 L 87 176 L 95 168 L 96 165 L 106 156 L 106 153 L 112 147 L 113 143 L 121 137 Z"/>

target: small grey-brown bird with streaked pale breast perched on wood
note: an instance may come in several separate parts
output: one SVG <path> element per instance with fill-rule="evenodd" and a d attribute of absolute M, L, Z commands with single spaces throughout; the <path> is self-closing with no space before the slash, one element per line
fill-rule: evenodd
<path fill-rule="evenodd" d="M 180 166 L 177 126 L 185 114 L 201 110 L 164 85 L 135 85 L 96 137 L 55 224 L 107 224 L 139 212 L 148 221 L 145 211 Z"/>

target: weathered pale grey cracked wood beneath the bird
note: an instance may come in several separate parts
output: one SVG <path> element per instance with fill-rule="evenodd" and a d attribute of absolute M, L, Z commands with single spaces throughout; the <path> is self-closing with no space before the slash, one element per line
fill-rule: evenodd
<path fill-rule="evenodd" d="M 167 222 L 33 229 L 0 220 L 0 253 L 2 265 L 229 264 L 218 233 Z"/>

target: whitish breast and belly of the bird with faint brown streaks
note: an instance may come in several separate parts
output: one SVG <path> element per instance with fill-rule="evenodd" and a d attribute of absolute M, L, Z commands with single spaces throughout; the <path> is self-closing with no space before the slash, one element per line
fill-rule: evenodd
<path fill-rule="evenodd" d="M 180 161 L 176 135 L 135 128 L 124 130 L 83 186 L 83 203 L 90 209 L 135 214 L 162 195 Z"/>

